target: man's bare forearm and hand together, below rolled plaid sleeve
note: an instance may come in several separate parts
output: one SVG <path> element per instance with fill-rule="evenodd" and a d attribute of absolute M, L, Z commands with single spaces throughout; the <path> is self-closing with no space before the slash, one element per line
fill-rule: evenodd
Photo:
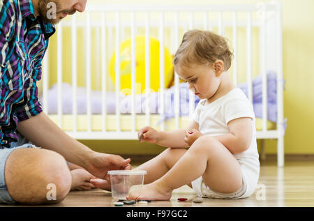
<path fill-rule="evenodd" d="M 60 153 L 66 160 L 87 169 L 96 177 L 105 178 L 109 170 L 131 168 L 130 158 L 124 160 L 119 155 L 92 151 L 68 136 L 43 112 L 20 121 L 17 130 L 36 146 Z"/>

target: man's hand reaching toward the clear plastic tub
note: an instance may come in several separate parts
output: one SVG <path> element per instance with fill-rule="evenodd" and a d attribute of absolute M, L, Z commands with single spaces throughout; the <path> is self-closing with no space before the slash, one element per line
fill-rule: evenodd
<path fill-rule="evenodd" d="M 110 170 L 131 169 L 130 158 L 124 160 L 119 155 L 94 152 L 86 169 L 98 178 L 108 179 L 107 172 Z"/>

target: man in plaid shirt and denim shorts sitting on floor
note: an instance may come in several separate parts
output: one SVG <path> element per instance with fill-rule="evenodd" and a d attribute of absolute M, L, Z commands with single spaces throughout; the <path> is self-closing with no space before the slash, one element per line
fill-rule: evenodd
<path fill-rule="evenodd" d="M 91 151 L 66 135 L 38 100 L 36 82 L 53 24 L 82 13 L 86 3 L 0 1 L 0 203 L 57 203 L 73 188 L 91 188 L 89 179 L 103 179 L 108 170 L 130 169 L 130 159 Z"/>

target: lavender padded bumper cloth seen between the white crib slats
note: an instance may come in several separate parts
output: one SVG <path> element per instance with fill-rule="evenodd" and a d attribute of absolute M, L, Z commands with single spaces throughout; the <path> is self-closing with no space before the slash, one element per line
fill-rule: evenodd
<path fill-rule="evenodd" d="M 267 74 L 267 119 L 269 121 L 277 121 L 277 79 L 276 74 L 269 72 Z M 248 96 L 247 84 L 239 84 L 239 88 Z M 163 120 L 174 117 L 174 92 L 175 87 L 165 89 L 165 113 Z M 63 114 L 72 113 L 72 86 L 67 83 L 62 84 L 62 102 Z M 48 109 L 49 114 L 57 113 L 57 85 L 52 86 L 48 91 Z M 106 108 L 107 114 L 114 114 L 116 109 L 115 93 L 106 93 Z M 149 112 L 151 114 L 160 114 L 160 93 L 149 94 Z M 200 101 L 200 98 L 195 96 L 195 107 Z M 135 113 L 145 114 L 146 111 L 146 95 L 135 96 Z M 188 116 L 189 114 L 189 89 L 188 83 L 179 84 L 179 116 Z M 121 114 L 130 114 L 132 109 L 132 96 L 120 96 L 119 105 Z M 92 114 L 100 114 L 102 106 L 101 91 L 91 91 L 91 112 Z M 259 75 L 253 79 L 253 108 L 255 116 L 262 118 L 262 76 Z M 77 88 L 77 111 L 78 114 L 84 114 L 87 110 L 87 96 L 86 89 L 82 87 Z"/>

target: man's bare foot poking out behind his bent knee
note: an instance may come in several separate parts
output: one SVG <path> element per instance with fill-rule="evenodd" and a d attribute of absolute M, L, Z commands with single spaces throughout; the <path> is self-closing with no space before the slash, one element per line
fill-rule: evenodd
<path fill-rule="evenodd" d="M 91 190 L 96 188 L 89 182 L 91 178 L 96 178 L 85 169 L 73 169 L 70 171 L 72 176 L 71 190 Z"/>

